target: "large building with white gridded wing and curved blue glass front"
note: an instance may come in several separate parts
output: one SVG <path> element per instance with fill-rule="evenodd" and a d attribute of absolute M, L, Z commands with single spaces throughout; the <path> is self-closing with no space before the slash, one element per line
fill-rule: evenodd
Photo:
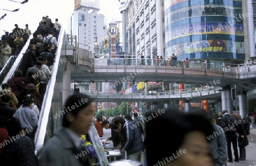
<path fill-rule="evenodd" d="M 119 0 L 126 53 L 244 63 L 255 57 L 256 1 Z M 256 9 L 256 8 L 255 8 Z"/>

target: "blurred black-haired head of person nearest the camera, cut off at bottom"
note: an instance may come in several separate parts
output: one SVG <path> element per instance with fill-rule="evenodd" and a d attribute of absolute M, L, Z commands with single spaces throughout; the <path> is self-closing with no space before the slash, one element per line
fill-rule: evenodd
<path fill-rule="evenodd" d="M 214 130 L 205 115 L 165 110 L 147 119 L 147 165 L 213 166 L 207 137 Z"/>

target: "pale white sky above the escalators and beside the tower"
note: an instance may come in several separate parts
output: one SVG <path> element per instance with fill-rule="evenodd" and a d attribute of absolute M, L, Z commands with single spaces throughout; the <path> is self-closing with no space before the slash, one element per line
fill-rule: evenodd
<path fill-rule="evenodd" d="M 0 36 L 5 34 L 4 30 L 11 32 L 15 28 L 14 24 L 18 24 L 19 28 L 25 28 L 28 24 L 28 28 L 34 32 L 42 16 L 46 15 L 52 19 L 53 23 L 55 18 L 58 18 L 61 26 L 65 28 L 74 10 L 74 0 L 28 0 L 24 4 L 17 2 L 23 2 L 23 0 L 0 0 L 0 17 L 7 14 L 0 20 Z M 121 20 L 118 0 L 100 0 L 100 3 L 101 10 L 98 13 L 105 15 L 107 25 L 111 20 Z M 19 11 L 12 12 L 15 9 Z"/>

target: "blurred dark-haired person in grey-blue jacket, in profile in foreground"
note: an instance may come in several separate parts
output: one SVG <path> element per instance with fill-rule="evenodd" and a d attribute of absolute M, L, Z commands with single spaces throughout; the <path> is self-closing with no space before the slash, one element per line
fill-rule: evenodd
<path fill-rule="evenodd" d="M 39 165 L 90 165 L 85 151 L 82 134 L 88 134 L 93 122 L 92 99 L 85 94 L 76 93 L 65 101 L 63 115 L 63 128 L 61 128 L 44 145 L 39 157 Z M 58 114 L 60 114 L 58 113 Z"/>

